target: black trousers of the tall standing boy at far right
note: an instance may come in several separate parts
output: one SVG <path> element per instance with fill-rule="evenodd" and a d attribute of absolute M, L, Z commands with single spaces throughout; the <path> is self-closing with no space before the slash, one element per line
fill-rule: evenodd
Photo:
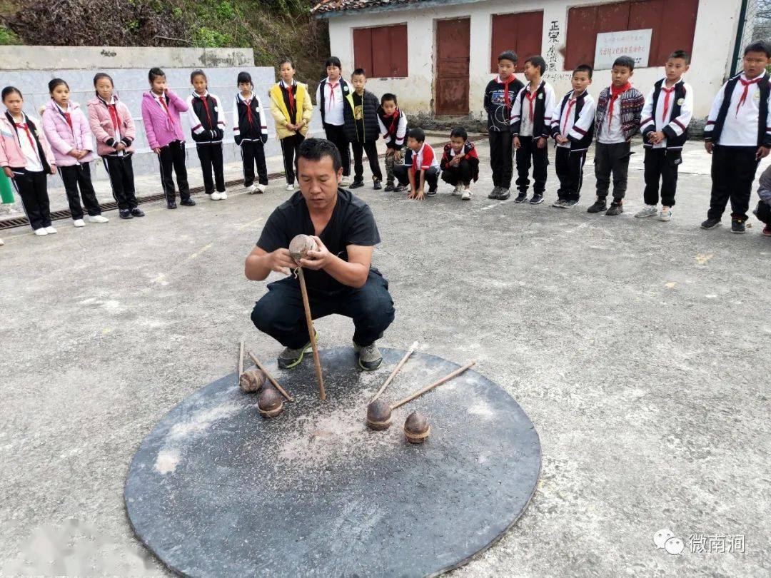
<path fill-rule="evenodd" d="M 720 146 L 712 149 L 712 199 L 707 217 L 719 219 L 731 200 L 731 218 L 747 220 L 752 183 L 758 170 L 757 146 Z"/>

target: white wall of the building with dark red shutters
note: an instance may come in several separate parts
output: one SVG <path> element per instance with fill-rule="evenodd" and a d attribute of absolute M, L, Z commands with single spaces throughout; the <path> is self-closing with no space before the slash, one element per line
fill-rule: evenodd
<path fill-rule="evenodd" d="M 399 106 L 407 113 L 433 112 L 433 76 L 435 66 L 435 29 L 440 18 L 470 17 L 470 96 L 469 107 L 473 115 L 483 114 L 483 94 L 490 74 L 490 44 L 492 15 L 510 12 L 544 11 L 543 46 L 545 56 L 549 48 L 548 30 L 557 22 L 559 36 L 557 47 L 564 47 L 567 41 L 567 11 L 573 5 L 599 4 L 618 0 L 588 0 L 587 2 L 565 2 L 565 0 L 490 0 L 490 2 L 469 2 L 458 5 L 443 5 L 421 8 L 409 5 L 405 10 L 387 12 L 362 12 L 358 15 L 340 15 L 329 18 L 330 49 L 342 61 L 343 71 L 348 75 L 353 69 L 353 29 L 368 26 L 407 23 L 409 56 L 407 66 L 409 77 L 404 79 L 370 79 L 368 88 L 380 95 L 394 92 Z M 692 65 L 686 76 L 695 92 L 695 118 L 709 113 L 712 99 L 729 73 L 732 60 L 736 27 L 739 21 L 741 0 L 701 0 L 696 18 L 693 40 Z M 528 55 L 520 54 L 520 59 Z M 558 95 L 571 89 L 571 72 L 563 71 L 564 59 L 557 53 L 557 71 L 548 72 L 546 77 L 554 85 Z M 662 63 L 663 65 L 663 63 Z M 524 76 L 519 75 L 524 81 Z M 664 76 L 663 66 L 635 70 L 633 83 L 647 92 L 653 82 Z M 591 92 L 598 96 L 604 86 L 610 84 L 608 71 L 598 71 L 594 76 Z"/>

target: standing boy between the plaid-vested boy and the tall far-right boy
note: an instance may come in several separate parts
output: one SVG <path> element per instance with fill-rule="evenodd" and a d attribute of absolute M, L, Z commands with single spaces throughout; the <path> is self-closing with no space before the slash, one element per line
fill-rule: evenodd
<path fill-rule="evenodd" d="M 665 62 L 665 78 L 653 85 L 642 109 L 641 132 L 645 146 L 645 209 L 635 217 L 652 217 L 658 212 L 658 181 L 662 182 L 662 210 L 658 219 L 672 218 L 675 206 L 678 166 L 682 147 L 688 139 L 693 116 L 693 89 L 682 75 L 688 72 L 691 56 L 675 50 Z"/>

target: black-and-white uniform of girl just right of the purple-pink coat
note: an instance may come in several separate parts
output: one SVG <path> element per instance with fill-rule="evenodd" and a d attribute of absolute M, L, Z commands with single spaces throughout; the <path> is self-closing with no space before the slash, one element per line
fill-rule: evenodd
<path fill-rule="evenodd" d="M 217 96 L 209 91 L 203 95 L 193 92 L 187 97 L 187 119 L 196 143 L 200 170 L 204 175 L 204 193 L 225 192 L 222 165 L 222 139 L 225 134 L 225 109 Z M 214 173 L 214 179 L 212 179 Z"/>

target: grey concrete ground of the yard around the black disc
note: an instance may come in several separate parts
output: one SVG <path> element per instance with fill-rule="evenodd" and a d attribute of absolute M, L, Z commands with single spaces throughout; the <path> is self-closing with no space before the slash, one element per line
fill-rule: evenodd
<path fill-rule="evenodd" d="M 470 202 L 359 190 L 397 307 L 382 344 L 476 358 L 540 434 L 529 509 L 455 575 L 768 576 L 771 239 L 757 221 L 699 230 L 698 143 L 669 223 L 632 217 L 641 170 L 626 212 L 604 217 L 586 213 L 591 166 L 581 205 L 558 210 L 487 200 L 483 143 L 480 156 Z M 265 286 L 243 263 L 282 187 L 53 237 L 3 231 L 5 574 L 165 573 L 126 521 L 128 464 L 173 405 L 234 371 L 239 339 L 278 353 L 249 320 Z M 352 333 L 343 318 L 318 327 L 322 347 Z M 661 529 L 682 553 L 657 549 Z"/>

